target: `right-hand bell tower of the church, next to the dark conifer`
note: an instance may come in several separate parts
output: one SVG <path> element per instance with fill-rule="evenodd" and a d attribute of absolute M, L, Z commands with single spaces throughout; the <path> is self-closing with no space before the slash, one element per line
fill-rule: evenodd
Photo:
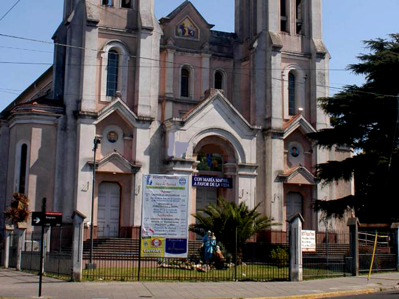
<path fill-rule="evenodd" d="M 334 195 L 333 188 L 321 188 L 318 183 L 305 188 L 279 176 L 296 167 L 296 162 L 291 162 L 299 158 L 298 166 L 306 164 L 309 173 L 315 164 L 334 159 L 333 152 L 312 149 L 304 138 L 308 129 L 329 126 L 316 102 L 328 96 L 330 59 L 322 41 L 321 8 L 321 0 L 235 0 L 238 42 L 234 63 L 238 74 L 233 102 L 240 105 L 251 124 L 264 129 L 257 144 L 256 198 L 263 200 L 266 215 L 282 223 L 280 229 L 285 229 L 288 197 L 295 192 L 302 194 L 307 228 L 318 225 L 317 215 L 308 208 L 311 199 Z M 240 82 L 246 82 L 245 94 Z M 299 119 L 308 129 L 288 131 Z M 289 156 L 292 148 L 295 156 Z"/>

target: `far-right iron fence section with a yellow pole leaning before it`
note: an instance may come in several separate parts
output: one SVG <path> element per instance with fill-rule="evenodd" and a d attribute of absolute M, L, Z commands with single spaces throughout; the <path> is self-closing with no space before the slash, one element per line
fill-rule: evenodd
<path fill-rule="evenodd" d="M 394 235 L 389 232 L 367 232 L 358 233 L 359 244 L 359 272 L 396 271 L 397 255 L 394 250 Z M 373 251 L 375 256 L 373 265 Z"/>

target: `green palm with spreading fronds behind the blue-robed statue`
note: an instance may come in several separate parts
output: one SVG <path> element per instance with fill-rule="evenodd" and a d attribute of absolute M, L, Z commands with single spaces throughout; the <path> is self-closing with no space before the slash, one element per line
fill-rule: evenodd
<path fill-rule="evenodd" d="M 236 205 L 234 202 L 227 202 L 218 198 L 217 205 L 209 204 L 205 209 L 193 215 L 197 219 L 196 224 L 190 226 L 190 231 L 199 234 L 201 237 L 209 230 L 215 234 L 216 241 L 221 242 L 227 252 L 235 253 L 235 227 L 237 227 L 237 251 L 240 255 L 245 242 L 257 232 L 268 228 L 275 223 L 273 219 L 262 216 L 256 209 L 249 209 L 241 202 Z"/>

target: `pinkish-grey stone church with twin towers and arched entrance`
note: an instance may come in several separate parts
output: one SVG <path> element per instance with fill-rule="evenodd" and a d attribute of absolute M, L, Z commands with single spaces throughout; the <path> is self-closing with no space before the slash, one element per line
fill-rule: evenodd
<path fill-rule="evenodd" d="M 122 236 L 141 223 L 144 173 L 185 174 L 232 179 L 192 187 L 191 214 L 224 197 L 259 203 L 274 230 L 297 212 L 323 229 L 312 201 L 354 190 L 313 175 L 351 152 L 305 137 L 329 127 L 316 103 L 329 94 L 321 0 L 235 0 L 233 33 L 212 30 L 190 1 L 160 20 L 154 5 L 64 0 L 53 65 L 1 112 L 1 209 L 14 192 L 32 211 L 46 197 L 64 223 L 76 209 L 100 237 Z M 169 155 L 178 142 L 187 151 Z"/>

